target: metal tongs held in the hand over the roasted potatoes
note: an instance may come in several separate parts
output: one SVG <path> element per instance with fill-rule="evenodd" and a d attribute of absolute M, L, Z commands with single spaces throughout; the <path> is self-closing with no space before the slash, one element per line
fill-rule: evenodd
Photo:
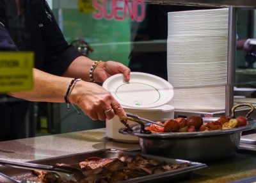
<path fill-rule="evenodd" d="M 142 118 L 142 117 L 140 117 L 138 115 L 135 115 L 135 114 L 132 114 L 132 113 L 126 113 L 126 115 L 127 116 L 124 116 L 124 117 L 120 118 L 120 121 L 125 125 L 125 127 L 127 127 L 127 131 L 131 131 L 131 132 L 133 131 L 132 128 L 126 122 L 126 120 L 131 120 L 131 121 L 140 123 L 141 133 L 144 133 L 144 134 L 151 134 L 151 132 L 145 129 L 145 124 L 143 123 L 143 121 L 148 122 L 148 123 L 152 123 L 152 124 L 155 124 L 155 125 L 159 125 L 161 127 L 164 127 L 164 129 L 167 129 L 169 132 L 172 132 L 168 127 L 164 126 L 161 123 L 157 123 L 157 122 L 154 122 L 152 120 L 148 120 L 147 118 Z"/>

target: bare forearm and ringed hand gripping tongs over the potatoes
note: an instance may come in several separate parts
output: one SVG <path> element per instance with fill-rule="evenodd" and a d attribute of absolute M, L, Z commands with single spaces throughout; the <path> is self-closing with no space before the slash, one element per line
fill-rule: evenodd
<path fill-rule="evenodd" d="M 33 69 L 34 88 L 29 92 L 10 92 L 8 95 L 30 101 L 65 102 L 68 85 L 72 78 L 60 77 Z M 95 83 L 79 81 L 74 85 L 68 100 L 79 106 L 93 120 L 111 119 L 114 115 L 126 116 L 111 93 Z M 108 109 L 109 113 L 104 113 Z"/>

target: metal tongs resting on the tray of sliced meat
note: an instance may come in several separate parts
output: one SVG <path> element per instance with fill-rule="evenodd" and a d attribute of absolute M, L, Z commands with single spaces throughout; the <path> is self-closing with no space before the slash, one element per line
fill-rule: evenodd
<path fill-rule="evenodd" d="M 0 159 L 0 164 L 6 165 L 6 166 L 12 166 L 15 168 L 22 168 L 26 170 L 50 171 L 55 173 L 56 176 L 58 177 L 61 177 L 65 180 L 72 180 L 74 182 L 78 182 L 79 180 L 85 178 L 83 171 L 79 170 L 79 168 L 70 167 L 70 166 L 50 166 L 45 164 L 9 161 L 5 159 Z"/>

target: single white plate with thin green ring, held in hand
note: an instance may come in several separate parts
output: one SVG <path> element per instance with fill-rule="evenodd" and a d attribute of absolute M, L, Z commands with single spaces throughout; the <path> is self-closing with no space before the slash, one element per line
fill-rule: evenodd
<path fill-rule="evenodd" d="M 104 81 L 103 87 L 111 92 L 122 106 L 152 108 L 163 106 L 173 97 L 173 86 L 161 77 L 142 72 L 131 72 L 129 83 L 123 74 L 116 74 Z"/>

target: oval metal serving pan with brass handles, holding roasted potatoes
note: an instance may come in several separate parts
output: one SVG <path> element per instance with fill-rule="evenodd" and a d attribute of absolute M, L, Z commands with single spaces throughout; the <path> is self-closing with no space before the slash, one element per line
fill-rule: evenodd
<path fill-rule="evenodd" d="M 214 161 L 230 157 L 237 152 L 241 132 L 256 128 L 256 121 L 250 119 L 255 111 L 251 104 L 239 104 L 232 107 L 232 118 L 235 118 L 235 109 L 240 106 L 250 106 L 246 115 L 248 124 L 233 129 L 203 131 L 203 132 L 164 132 L 148 134 L 145 127 L 151 123 L 134 124 L 122 128 L 120 133 L 138 136 L 141 151 L 145 154 L 161 155 L 174 159 L 187 159 L 191 161 Z M 132 120 L 131 117 L 126 119 Z M 205 122 L 218 120 L 218 118 L 203 118 Z M 138 119 L 134 120 L 138 122 Z M 124 120 L 122 120 L 123 123 Z M 125 123 L 127 126 L 127 124 Z"/>

